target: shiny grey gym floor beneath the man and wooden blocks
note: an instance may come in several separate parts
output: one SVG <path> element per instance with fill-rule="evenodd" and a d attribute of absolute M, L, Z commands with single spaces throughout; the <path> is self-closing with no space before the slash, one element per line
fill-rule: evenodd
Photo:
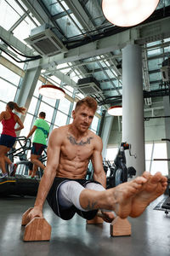
<path fill-rule="evenodd" d="M 167 195 L 152 202 L 139 218 L 128 218 L 132 236 L 110 236 L 110 224 L 86 224 L 75 215 L 62 220 L 44 205 L 44 218 L 52 225 L 50 241 L 22 241 L 22 213 L 33 206 L 34 197 L 0 198 L 1 256 L 146 256 L 170 253 L 170 212 L 153 210 Z"/>

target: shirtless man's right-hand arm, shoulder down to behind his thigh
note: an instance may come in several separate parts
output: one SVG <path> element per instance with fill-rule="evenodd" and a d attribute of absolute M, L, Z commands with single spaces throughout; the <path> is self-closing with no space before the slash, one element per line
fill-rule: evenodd
<path fill-rule="evenodd" d="M 105 177 L 105 171 L 103 168 L 103 160 L 102 160 L 102 148 L 103 143 L 100 137 L 95 137 L 95 148 L 94 148 L 94 154 L 92 156 L 92 164 L 94 166 L 94 180 L 101 183 L 104 188 L 106 186 L 106 177 Z"/>

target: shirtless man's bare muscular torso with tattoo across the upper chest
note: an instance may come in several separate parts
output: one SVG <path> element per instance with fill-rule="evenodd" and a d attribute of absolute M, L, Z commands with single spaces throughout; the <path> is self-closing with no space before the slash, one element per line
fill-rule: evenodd
<path fill-rule="evenodd" d="M 94 137 L 97 136 L 94 132 L 88 130 L 84 137 L 77 140 L 69 131 L 69 125 L 65 126 L 65 131 L 61 136 L 62 144 L 56 176 L 85 178 L 88 162 L 94 153 Z"/>

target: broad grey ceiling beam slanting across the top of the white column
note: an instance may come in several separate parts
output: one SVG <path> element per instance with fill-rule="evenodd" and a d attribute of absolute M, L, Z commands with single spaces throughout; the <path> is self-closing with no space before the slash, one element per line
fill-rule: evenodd
<path fill-rule="evenodd" d="M 154 42 L 155 40 L 170 37 L 170 18 L 151 23 L 153 24 L 133 27 L 132 29 L 117 33 L 109 38 L 102 38 L 93 43 L 77 47 L 76 49 L 70 49 L 65 54 L 42 58 L 40 65 L 42 68 L 46 68 L 52 64 L 59 65 L 66 62 L 79 61 L 97 55 L 104 55 L 116 49 L 122 49 L 127 44 L 145 44 L 146 42 Z M 29 63 L 28 68 L 32 67 L 37 67 L 33 61 Z"/>

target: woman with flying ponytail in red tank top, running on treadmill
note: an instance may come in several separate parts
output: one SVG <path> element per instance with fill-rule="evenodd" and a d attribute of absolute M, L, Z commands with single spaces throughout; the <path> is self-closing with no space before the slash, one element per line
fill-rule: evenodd
<path fill-rule="evenodd" d="M 0 122 L 2 122 L 3 125 L 3 131 L 0 137 L 0 167 L 3 172 L 3 177 L 8 176 L 5 163 L 7 163 L 9 166 L 9 176 L 14 176 L 16 172 L 16 164 L 9 160 L 6 154 L 10 148 L 13 148 L 14 146 L 16 140 L 16 131 L 20 131 L 24 128 L 20 117 L 13 113 L 13 110 L 22 114 L 26 113 L 26 108 L 19 107 L 15 102 L 8 102 L 6 105 L 6 110 L 0 113 Z M 14 128 L 16 124 L 19 126 Z"/>

